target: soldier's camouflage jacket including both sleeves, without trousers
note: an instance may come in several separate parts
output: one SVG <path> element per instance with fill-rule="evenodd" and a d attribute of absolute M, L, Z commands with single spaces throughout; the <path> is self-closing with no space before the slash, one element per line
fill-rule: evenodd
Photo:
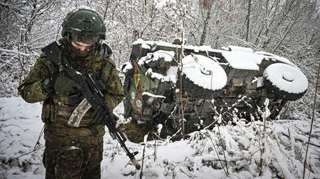
<path fill-rule="evenodd" d="M 90 69 L 94 72 L 95 78 L 102 80 L 106 85 L 106 91 L 104 92 L 106 101 L 109 108 L 113 110 L 113 108 L 122 101 L 124 94 L 122 84 L 118 77 L 118 71 L 110 56 L 111 49 L 109 49 L 109 53 L 104 53 L 104 56 L 95 53 L 95 56 L 90 59 L 75 59 L 72 58 L 72 55 L 64 46 L 61 46 L 61 58 L 67 58 L 75 71 L 85 74 L 86 69 Z M 47 124 L 58 123 L 67 126 L 65 121 L 70 117 L 74 108 L 77 107 L 77 103 L 74 104 L 70 101 L 68 92 L 61 92 L 60 89 L 57 88 L 68 87 L 70 81 L 62 80 L 61 84 L 54 84 L 54 87 L 51 89 L 47 89 L 45 85 L 43 85 L 43 81 L 46 78 L 51 78 L 53 81 L 61 76 L 68 78 L 66 73 L 60 69 L 61 67 L 54 65 L 47 56 L 42 55 L 35 62 L 33 69 L 29 72 L 24 82 L 19 85 L 18 90 L 26 102 L 35 103 L 44 101 L 42 105 L 43 122 Z M 92 112 L 93 110 L 90 109 L 83 117 L 83 119 L 86 120 L 81 121 L 81 126 L 90 126 L 93 124 L 90 119 Z"/>

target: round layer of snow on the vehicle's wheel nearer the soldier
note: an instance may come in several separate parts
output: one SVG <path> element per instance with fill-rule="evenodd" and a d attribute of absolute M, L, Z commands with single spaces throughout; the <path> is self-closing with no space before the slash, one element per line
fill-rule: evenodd
<path fill-rule="evenodd" d="M 221 89 L 227 83 L 227 75 L 223 68 L 205 56 L 186 56 L 182 59 L 182 68 L 186 78 L 205 89 Z"/>

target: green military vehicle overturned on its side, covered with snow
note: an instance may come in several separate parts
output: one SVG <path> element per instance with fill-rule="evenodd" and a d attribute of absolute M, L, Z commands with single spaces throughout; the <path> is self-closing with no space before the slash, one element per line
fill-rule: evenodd
<path fill-rule="evenodd" d="M 275 118 L 307 89 L 305 75 L 286 58 L 239 46 L 216 50 L 137 40 L 122 71 L 125 117 L 162 123 L 168 133 L 179 129 L 182 111 L 191 132 L 219 116 L 261 117 L 265 99 Z"/>

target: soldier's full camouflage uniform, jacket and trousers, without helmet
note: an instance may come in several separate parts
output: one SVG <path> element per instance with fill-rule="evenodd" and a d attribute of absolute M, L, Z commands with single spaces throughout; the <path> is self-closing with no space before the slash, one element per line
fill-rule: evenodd
<path fill-rule="evenodd" d="M 109 108 L 113 110 L 122 101 L 124 94 L 111 54 L 102 56 L 94 51 L 87 58 L 81 59 L 73 55 L 67 43 L 61 46 L 61 58 L 65 58 L 81 74 L 86 74 L 88 69 L 93 71 L 95 78 L 101 79 L 106 85 L 104 94 Z M 92 108 L 84 115 L 79 128 L 67 125 L 70 115 L 80 102 L 74 103 L 69 96 L 77 92 L 79 84 L 60 69 L 47 56 L 42 55 L 19 86 L 19 94 L 26 102 L 44 101 L 42 121 L 45 123 L 45 176 L 100 178 L 104 126 L 94 123 L 91 118 Z M 55 81 L 51 89 L 43 84 L 46 78 Z"/>

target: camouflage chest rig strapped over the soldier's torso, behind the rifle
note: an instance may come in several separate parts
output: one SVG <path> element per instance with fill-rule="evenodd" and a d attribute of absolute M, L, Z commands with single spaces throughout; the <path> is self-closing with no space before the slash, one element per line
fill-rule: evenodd
<path fill-rule="evenodd" d="M 47 58 L 54 62 L 57 67 L 54 74 L 54 94 L 43 103 L 42 106 L 42 121 L 45 123 L 60 123 L 63 126 L 68 126 L 72 112 L 77 105 L 81 102 L 81 96 L 79 95 L 79 87 L 81 86 L 67 76 L 63 70 L 63 60 L 68 62 L 74 71 L 81 74 L 93 74 L 96 79 L 101 76 L 101 69 L 106 62 L 108 62 L 109 56 L 112 51 L 109 46 L 102 44 L 99 54 L 95 54 L 90 59 L 74 59 L 67 53 L 67 50 L 63 46 L 58 46 L 56 42 L 53 42 L 42 49 L 42 52 L 47 55 Z M 90 126 L 93 124 L 90 119 L 93 110 L 90 109 L 84 114 L 79 127 Z M 70 126 L 68 126 L 70 127 Z"/>

